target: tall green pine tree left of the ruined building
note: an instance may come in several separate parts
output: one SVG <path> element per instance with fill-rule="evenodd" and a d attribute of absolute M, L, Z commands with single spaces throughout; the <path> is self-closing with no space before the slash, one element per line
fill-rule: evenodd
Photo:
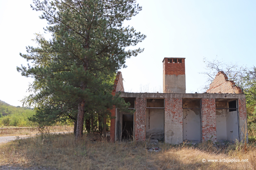
<path fill-rule="evenodd" d="M 37 35 L 38 47 L 20 54 L 32 66 L 17 68 L 35 78 L 24 102 L 37 104 L 34 120 L 54 122 L 70 118 L 77 123 L 76 138 L 82 137 L 84 113 L 105 113 L 113 104 L 111 82 L 125 59 L 143 49 L 127 50 L 146 38 L 133 27 L 122 26 L 138 14 L 135 0 L 34 0 L 33 10 L 48 21 L 47 41 Z"/>

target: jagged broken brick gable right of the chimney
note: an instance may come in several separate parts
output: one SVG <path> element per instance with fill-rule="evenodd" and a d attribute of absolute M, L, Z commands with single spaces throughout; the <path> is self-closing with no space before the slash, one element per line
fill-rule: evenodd
<path fill-rule="evenodd" d="M 207 93 L 243 93 L 241 88 L 236 86 L 234 81 L 229 81 L 227 75 L 220 71 L 217 73 Z"/>

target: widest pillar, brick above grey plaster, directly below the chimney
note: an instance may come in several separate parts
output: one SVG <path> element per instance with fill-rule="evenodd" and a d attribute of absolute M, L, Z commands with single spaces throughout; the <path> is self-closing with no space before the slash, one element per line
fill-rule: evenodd
<path fill-rule="evenodd" d="M 183 142 L 182 98 L 165 98 L 164 141 L 169 144 Z"/>

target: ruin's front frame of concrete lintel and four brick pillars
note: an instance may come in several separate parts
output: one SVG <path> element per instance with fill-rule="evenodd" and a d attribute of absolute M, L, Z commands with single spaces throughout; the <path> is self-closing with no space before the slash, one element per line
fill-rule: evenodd
<path fill-rule="evenodd" d="M 216 141 L 216 109 L 215 99 L 238 99 L 240 141 L 244 140 L 246 131 L 246 105 L 244 94 L 220 93 L 127 93 L 122 92 L 121 97 L 136 98 L 135 112 L 135 139 L 145 141 L 146 133 L 146 98 L 165 98 L 165 142 L 179 144 L 183 142 L 183 111 L 182 98 L 201 99 L 202 139 Z M 203 122 L 204 121 L 204 122 Z M 112 126 L 112 125 L 111 125 Z M 248 139 L 245 139 L 248 141 Z"/>

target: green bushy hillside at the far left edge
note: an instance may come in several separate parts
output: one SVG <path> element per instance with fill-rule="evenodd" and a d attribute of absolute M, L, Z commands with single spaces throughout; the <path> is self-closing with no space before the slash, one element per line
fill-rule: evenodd
<path fill-rule="evenodd" d="M 12 106 L 0 100 L 0 125 L 2 126 L 29 126 L 28 117 L 34 115 L 29 107 Z"/>

